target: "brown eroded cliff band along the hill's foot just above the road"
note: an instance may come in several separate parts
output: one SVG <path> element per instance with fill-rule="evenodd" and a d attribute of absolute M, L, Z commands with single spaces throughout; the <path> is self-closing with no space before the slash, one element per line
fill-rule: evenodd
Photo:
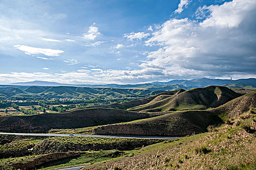
<path fill-rule="evenodd" d="M 146 129 L 129 124 L 120 125 L 107 125 L 101 126 L 90 131 L 95 135 L 126 135 L 126 136 L 187 136 L 192 134 L 202 133 L 198 128 L 192 128 L 190 130 L 172 129 L 172 130 L 157 130 Z"/>

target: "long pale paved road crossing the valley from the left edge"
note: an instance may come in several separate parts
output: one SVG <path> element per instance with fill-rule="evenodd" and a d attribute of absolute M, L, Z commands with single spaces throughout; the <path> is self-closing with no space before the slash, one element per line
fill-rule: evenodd
<path fill-rule="evenodd" d="M 66 134 L 25 134 L 25 133 L 0 133 L 0 135 L 18 135 L 18 136 L 70 136 Z M 141 139 L 176 139 L 178 137 L 167 136 L 109 136 L 109 135 L 72 135 L 82 137 L 115 137 L 115 138 L 141 138 Z"/>

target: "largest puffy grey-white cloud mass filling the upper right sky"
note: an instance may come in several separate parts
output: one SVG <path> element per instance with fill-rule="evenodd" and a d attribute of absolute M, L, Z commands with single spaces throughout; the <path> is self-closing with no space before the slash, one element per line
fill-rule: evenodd
<path fill-rule="evenodd" d="M 140 66 L 169 70 L 170 78 L 256 73 L 256 1 L 233 0 L 205 8 L 210 16 L 201 23 L 188 18 L 166 21 L 146 41 L 161 48 L 150 52 Z"/>

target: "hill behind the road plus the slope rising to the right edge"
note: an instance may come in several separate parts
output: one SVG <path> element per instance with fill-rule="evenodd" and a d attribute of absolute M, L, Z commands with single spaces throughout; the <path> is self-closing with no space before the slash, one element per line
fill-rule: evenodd
<path fill-rule="evenodd" d="M 138 136 L 186 136 L 207 131 L 212 124 L 219 124 L 256 108 L 256 93 L 246 94 L 209 110 L 178 111 L 166 115 L 96 127 L 94 134 Z"/>

